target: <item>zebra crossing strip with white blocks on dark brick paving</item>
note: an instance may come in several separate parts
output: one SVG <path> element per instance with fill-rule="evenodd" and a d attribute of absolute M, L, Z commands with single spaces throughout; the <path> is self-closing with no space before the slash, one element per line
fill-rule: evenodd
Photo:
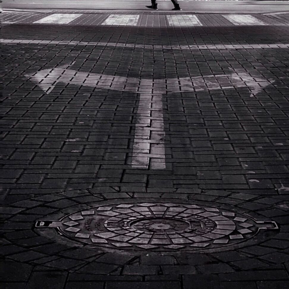
<path fill-rule="evenodd" d="M 288 26 L 284 14 L 84 14 L 3 12 L 4 24 L 101 25 L 139 27 L 194 27 L 194 26 Z"/>

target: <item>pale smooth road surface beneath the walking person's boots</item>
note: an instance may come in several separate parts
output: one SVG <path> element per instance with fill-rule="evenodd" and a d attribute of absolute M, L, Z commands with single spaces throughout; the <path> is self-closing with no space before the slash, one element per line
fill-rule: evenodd
<path fill-rule="evenodd" d="M 90 9 L 90 10 L 115 10 L 115 11 L 141 11 L 146 12 L 145 5 L 150 5 L 150 0 L 5 0 L 2 7 L 5 9 Z M 230 4 L 228 4 L 230 3 Z M 272 13 L 288 12 L 287 1 L 206 1 L 206 0 L 180 0 L 183 11 L 191 13 Z M 158 11 L 169 12 L 173 8 L 170 0 L 158 0 Z M 150 10 L 149 13 L 155 11 Z M 175 12 L 174 12 L 175 13 Z M 179 13 L 179 12 L 177 12 Z"/>

